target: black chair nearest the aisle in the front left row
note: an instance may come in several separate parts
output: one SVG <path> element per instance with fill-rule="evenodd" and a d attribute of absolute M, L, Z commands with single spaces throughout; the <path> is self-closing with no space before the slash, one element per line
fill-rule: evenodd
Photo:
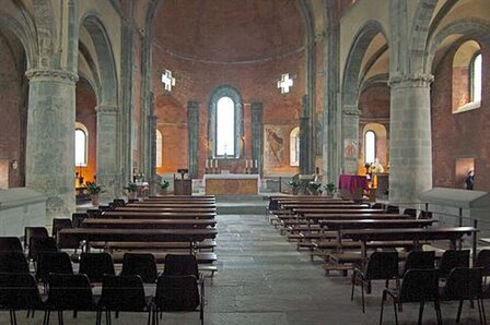
<path fill-rule="evenodd" d="M 159 324 L 158 313 L 199 312 L 205 324 L 205 303 L 199 294 L 198 280 L 194 275 L 162 275 L 156 281 L 153 300 L 153 324 Z"/>

